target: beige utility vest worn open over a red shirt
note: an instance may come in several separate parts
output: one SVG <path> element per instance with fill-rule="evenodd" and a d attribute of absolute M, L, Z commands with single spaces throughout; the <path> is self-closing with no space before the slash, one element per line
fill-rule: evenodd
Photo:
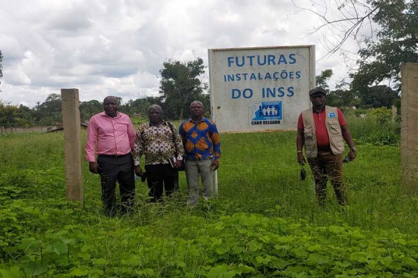
<path fill-rule="evenodd" d="M 344 139 L 339 125 L 336 107 L 325 106 L 325 115 L 325 126 L 330 137 L 332 153 L 343 154 Z M 318 148 L 316 146 L 316 128 L 312 108 L 302 111 L 302 117 L 305 154 L 308 158 L 316 158 L 318 156 Z"/>

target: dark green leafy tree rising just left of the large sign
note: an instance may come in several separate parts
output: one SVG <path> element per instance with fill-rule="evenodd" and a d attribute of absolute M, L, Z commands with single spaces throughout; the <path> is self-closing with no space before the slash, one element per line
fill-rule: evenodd
<path fill-rule="evenodd" d="M 208 84 L 201 81 L 205 72 L 202 58 L 187 63 L 178 60 L 164 62 L 160 70 L 160 95 L 164 115 L 169 119 L 183 119 L 194 100 L 202 100 Z"/>

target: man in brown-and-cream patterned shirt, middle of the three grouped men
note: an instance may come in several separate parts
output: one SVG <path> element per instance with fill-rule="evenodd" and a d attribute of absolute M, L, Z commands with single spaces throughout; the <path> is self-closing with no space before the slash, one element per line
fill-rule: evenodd
<path fill-rule="evenodd" d="M 143 174 L 139 164 L 144 154 L 151 202 L 161 202 L 163 185 L 167 197 L 178 190 L 178 169 L 183 165 L 184 150 L 176 126 L 162 120 L 160 106 L 155 104 L 148 108 L 148 119 L 150 122 L 141 124 L 137 129 L 134 142 L 135 173 L 138 176 Z"/>

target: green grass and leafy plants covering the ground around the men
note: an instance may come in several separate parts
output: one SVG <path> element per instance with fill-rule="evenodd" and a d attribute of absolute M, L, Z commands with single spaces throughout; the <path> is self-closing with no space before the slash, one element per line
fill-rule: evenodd
<path fill-rule="evenodd" d="M 62 133 L 1 136 L 0 277 L 417 277 L 418 199 L 401 191 L 398 137 L 366 141 L 398 123 L 356 112 L 344 208 L 332 188 L 316 204 L 310 173 L 299 181 L 294 132 L 223 134 L 218 198 L 187 208 L 182 172 L 163 206 L 137 181 L 134 213 L 118 218 L 102 215 L 85 161 L 83 206 L 66 201 Z"/>

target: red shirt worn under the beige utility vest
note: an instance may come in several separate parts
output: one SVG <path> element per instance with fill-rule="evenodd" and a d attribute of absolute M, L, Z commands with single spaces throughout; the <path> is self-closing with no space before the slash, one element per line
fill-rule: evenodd
<path fill-rule="evenodd" d="M 341 110 L 339 110 L 339 108 L 336 108 L 336 112 L 338 113 L 338 122 L 340 126 L 345 126 L 347 122 L 343 116 L 343 113 L 341 113 Z M 328 136 L 327 126 L 325 126 L 326 119 L 327 116 L 325 115 L 325 109 L 323 111 L 320 111 L 319 113 L 314 112 L 316 145 L 318 147 L 327 147 L 330 145 L 330 136 Z M 297 129 L 303 129 L 302 113 L 300 113 L 299 119 L 297 120 Z"/>

